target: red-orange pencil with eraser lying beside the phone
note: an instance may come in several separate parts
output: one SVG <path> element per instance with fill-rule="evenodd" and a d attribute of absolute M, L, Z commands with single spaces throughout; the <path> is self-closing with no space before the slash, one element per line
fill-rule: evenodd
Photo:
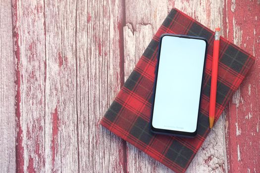
<path fill-rule="evenodd" d="M 220 28 L 215 29 L 215 40 L 213 45 L 212 57 L 212 73 L 211 73 L 211 87 L 209 99 L 209 128 L 213 127 L 216 107 L 216 90 L 217 90 L 217 70 L 218 70 L 218 56 L 219 56 L 219 32 Z"/>

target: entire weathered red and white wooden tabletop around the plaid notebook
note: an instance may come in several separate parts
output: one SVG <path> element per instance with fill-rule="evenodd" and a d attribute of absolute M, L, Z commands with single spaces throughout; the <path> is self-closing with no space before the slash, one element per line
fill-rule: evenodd
<path fill-rule="evenodd" d="M 260 173 L 260 0 L 0 0 L 0 172 L 172 172 L 99 125 L 172 7 L 256 57 L 187 172 Z"/>

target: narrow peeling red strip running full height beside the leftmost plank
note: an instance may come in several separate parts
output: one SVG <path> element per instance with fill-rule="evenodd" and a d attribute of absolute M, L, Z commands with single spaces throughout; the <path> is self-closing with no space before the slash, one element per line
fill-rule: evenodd
<path fill-rule="evenodd" d="M 12 18 L 13 18 L 13 43 L 14 43 L 14 55 L 16 58 L 15 66 L 15 85 L 16 85 L 16 94 L 15 94 L 15 116 L 16 116 L 16 146 L 15 146 L 15 162 L 16 162 L 16 172 L 22 173 L 24 168 L 24 148 L 22 145 L 23 136 L 22 136 L 22 127 L 21 127 L 21 112 L 20 112 L 20 103 L 21 103 L 21 74 L 20 74 L 20 46 L 19 46 L 19 33 L 17 28 L 17 0 L 12 1 Z"/>

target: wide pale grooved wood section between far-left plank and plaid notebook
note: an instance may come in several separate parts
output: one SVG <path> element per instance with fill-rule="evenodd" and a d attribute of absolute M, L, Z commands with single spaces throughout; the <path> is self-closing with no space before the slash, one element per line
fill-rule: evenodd
<path fill-rule="evenodd" d="M 17 172 L 123 172 L 121 139 L 99 125 L 120 88 L 121 1 L 12 5 Z"/>

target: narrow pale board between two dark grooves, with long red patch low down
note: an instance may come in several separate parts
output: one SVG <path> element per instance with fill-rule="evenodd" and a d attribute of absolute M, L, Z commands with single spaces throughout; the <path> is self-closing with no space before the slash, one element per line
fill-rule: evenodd
<path fill-rule="evenodd" d="M 45 1 L 46 172 L 78 172 L 77 1 Z"/>

